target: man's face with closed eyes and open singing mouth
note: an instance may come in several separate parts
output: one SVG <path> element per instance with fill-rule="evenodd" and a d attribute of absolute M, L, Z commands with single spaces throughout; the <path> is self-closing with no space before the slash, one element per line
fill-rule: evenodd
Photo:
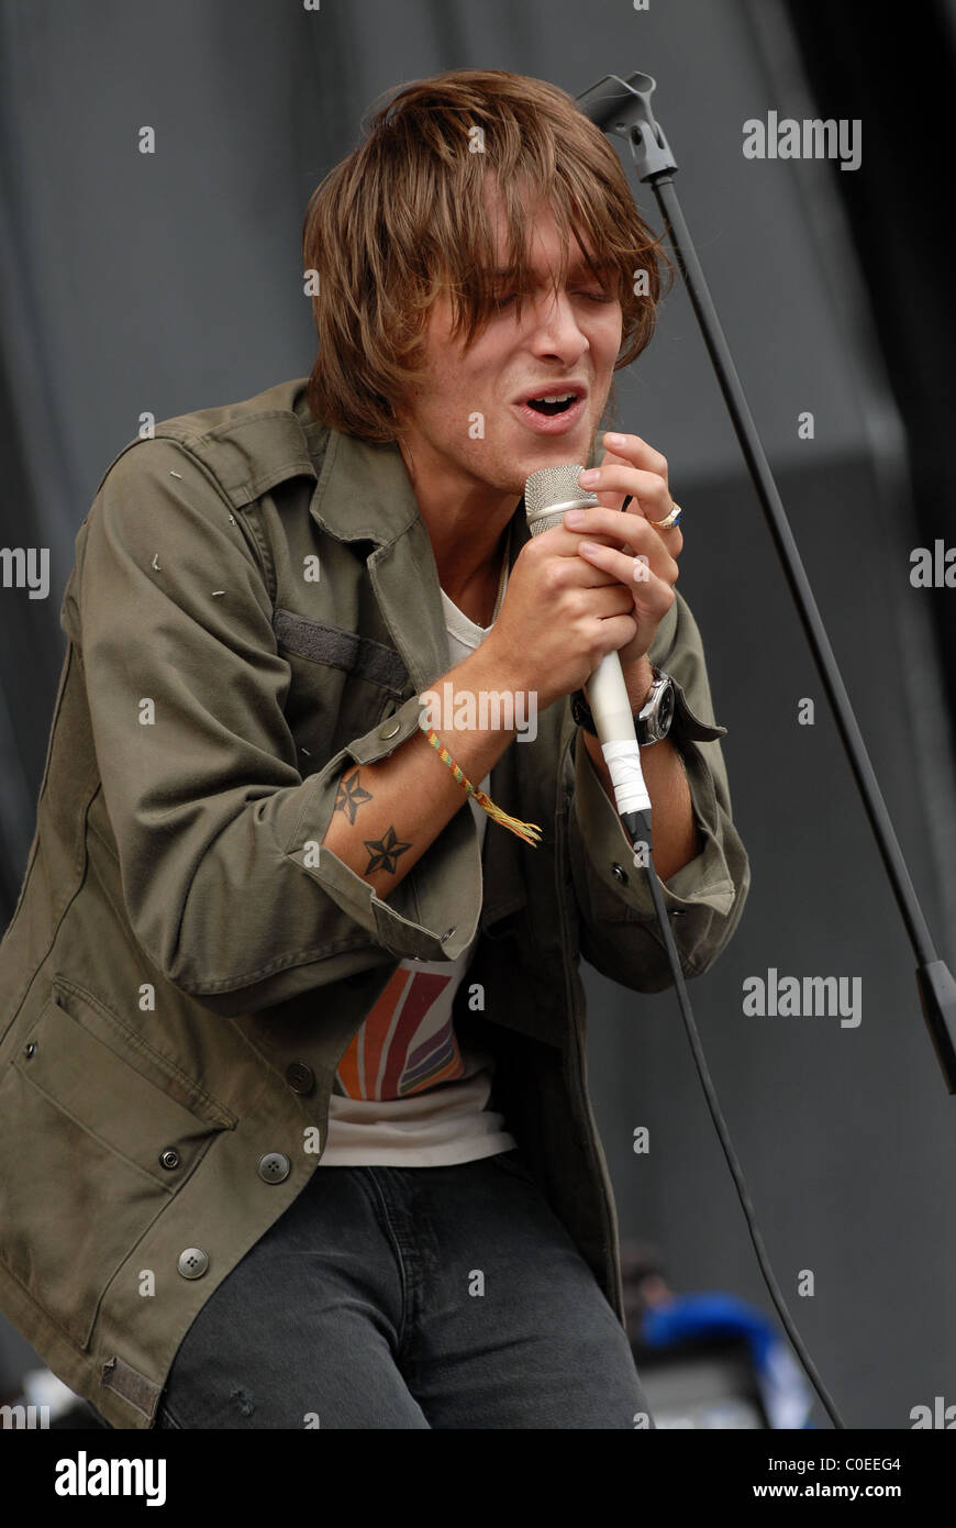
<path fill-rule="evenodd" d="M 501 267 L 507 229 L 495 197 L 489 214 Z M 472 497 L 484 486 L 519 498 L 539 468 L 588 460 L 620 353 L 622 306 L 617 290 L 591 275 L 574 240 L 560 284 L 560 240 L 547 206 L 528 226 L 533 289 L 521 316 L 513 289 L 499 284 L 498 312 L 466 350 L 463 336 L 451 339 L 444 293 L 429 312 L 428 377 L 397 410 L 403 454 L 423 487 Z M 568 391 L 576 400 L 564 413 L 528 403 Z"/>

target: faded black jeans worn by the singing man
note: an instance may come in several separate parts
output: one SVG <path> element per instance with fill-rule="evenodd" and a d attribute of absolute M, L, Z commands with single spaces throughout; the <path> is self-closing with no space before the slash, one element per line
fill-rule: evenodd
<path fill-rule="evenodd" d="M 157 1427 L 652 1427 L 516 1151 L 316 1167 L 186 1332 Z"/>

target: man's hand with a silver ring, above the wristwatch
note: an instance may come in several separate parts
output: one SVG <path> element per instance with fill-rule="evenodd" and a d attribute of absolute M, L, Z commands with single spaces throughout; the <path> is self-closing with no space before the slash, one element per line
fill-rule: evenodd
<path fill-rule="evenodd" d="M 564 526 L 580 536 L 579 556 L 606 575 L 596 582 L 623 584 L 632 596 L 637 634 L 632 642 L 618 648 L 626 674 L 628 668 L 646 656 L 657 628 L 675 601 L 673 585 L 680 573 L 677 558 L 684 538 L 680 526 L 658 530 L 651 524 L 652 520 L 664 520 L 673 503 L 667 487 L 666 457 L 640 435 L 608 432 L 603 442 L 606 449 L 600 466 L 593 469 L 596 480 L 582 483 L 582 487 L 597 495 L 600 509 L 570 510 L 564 516 Z M 622 513 L 628 494 L 632 500 Z M 573 523 L 574 513 L 580 513 L 577 524 Z M 585 541 L 593 544 L 593 550 L 582 545 Z"/>

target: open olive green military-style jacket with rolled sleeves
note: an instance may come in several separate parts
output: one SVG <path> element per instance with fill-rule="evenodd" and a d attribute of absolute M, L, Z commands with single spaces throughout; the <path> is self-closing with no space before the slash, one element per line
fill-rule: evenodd
<path fill-rule="evenodd" d="M 512 562 L 527 538 L 519 504 Z M 12 1325 L 110 1424 L 151 1427 L 191 1322 L 315 1172 L 339 1057 L 397 961 L 454 960 L 476 931 L 457 1027 L 495 1054 L 492 1103 L 623 1319 L 579 957 L 635 992 L 672 976 L 570 701 L 492 772 L 538 847 L 489 822 L 480 854 L 458 811 L 388 900 L 321 848 L 342 772 L 411 736 L 418 692 L 452 666 L 397 448 L 318 423 L 304 379 L 166 420 L 104 474 L 61 625 L 0 944 Z M 750 871 L 680 594 L 651 657 L 687 703 L 704 847 L 666 902 L 693 976 Z"/>

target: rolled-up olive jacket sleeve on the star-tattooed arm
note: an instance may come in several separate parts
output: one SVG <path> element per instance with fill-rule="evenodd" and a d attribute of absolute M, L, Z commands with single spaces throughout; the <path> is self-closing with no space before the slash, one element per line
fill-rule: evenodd
<path fill-rule="evenodd" d="M 81 527 L 63 614 L 133 932 L 171 983 L 224 1015 L 389 958 L 451 961 L 481 912 L 469 813 L 388 902 L 321 845 L 342 772 L 412 736 L 420 703 L 302 779 L 283 711 L 290 668 L 237 515 L 185 445 L 133 445 Z"/>

